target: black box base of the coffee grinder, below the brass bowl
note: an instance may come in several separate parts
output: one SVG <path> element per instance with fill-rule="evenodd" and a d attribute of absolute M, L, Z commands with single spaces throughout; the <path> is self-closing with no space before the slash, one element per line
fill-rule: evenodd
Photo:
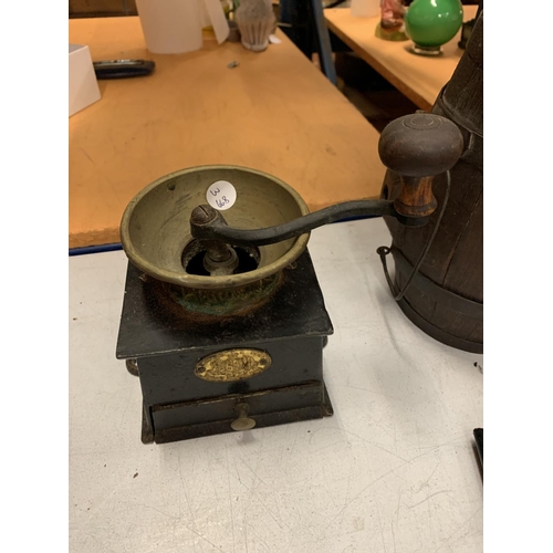
<path fill-rule="evenodd" d="M 270 301 L 243 314 L 194 315 L 140 275 L 128 263 L 116 356 L 137 359 L 144 442 L 233 431 L 239 404 L 255 428 L 332 415 L 322 351 L 333 328 L 307 251 Z M 248 347 L 265 352 L 270 367 L 238 382 L 195 374 L 207 355 Z"/>

